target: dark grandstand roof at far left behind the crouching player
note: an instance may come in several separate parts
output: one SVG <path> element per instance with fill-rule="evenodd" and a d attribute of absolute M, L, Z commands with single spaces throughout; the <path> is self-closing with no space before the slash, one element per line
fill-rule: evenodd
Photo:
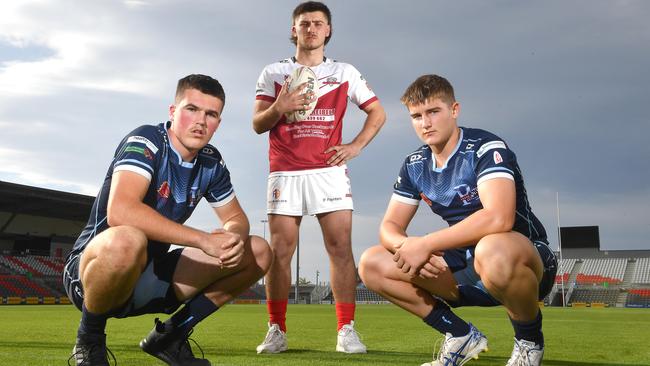
<path fill-rule="evenodd" d="M 94 200 L 92 196 L 0 181 L 0 212 L 86 221 Z"/>

